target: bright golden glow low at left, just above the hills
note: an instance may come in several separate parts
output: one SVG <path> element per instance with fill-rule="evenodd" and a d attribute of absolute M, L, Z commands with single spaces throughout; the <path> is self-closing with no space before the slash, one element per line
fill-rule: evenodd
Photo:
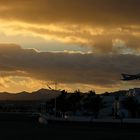
<path fill-rule="evenodd" d="M 0 78 L 0 91 L 18 93 L 21 91 L 32 92 L 46 87 L 44 82 L 29 77 L 8 76 Z"/>

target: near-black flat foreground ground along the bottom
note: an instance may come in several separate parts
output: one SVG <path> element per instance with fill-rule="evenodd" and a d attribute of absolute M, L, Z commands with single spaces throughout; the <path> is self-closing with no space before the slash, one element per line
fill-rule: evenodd
<path fill-rule="evenodd" d="M 85 139 L 85 140 L 139 140 L 139 125 L 122 124 L 39 124 L 37 120 L 0 120 L 0 140 Z"/>

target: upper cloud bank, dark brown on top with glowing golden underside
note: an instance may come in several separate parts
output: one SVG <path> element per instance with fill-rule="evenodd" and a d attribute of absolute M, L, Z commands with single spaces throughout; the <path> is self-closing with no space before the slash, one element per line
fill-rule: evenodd
<path fill-rule="evenodd" d="M 139 0 L 2 0 L 0 31 L 90 47 L 96 53 L 139 53 Z"/>

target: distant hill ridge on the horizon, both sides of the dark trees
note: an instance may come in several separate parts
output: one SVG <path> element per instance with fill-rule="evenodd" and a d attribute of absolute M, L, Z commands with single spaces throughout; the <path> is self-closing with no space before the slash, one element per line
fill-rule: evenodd
<path fill-rule="evenodd" d="M 126 95 L 128 90 L 120 90 L 115 92 L 105 92 L 100 95 L 102 96 L 116 96 L 116 95 Z M 39 89 L 34 92 L 20 92 L 20 93 L 8 93 L 0 92 L 0 100 L 49 100 L 56 96 L 59 96 L 61 91 L 59 90 L 49 90 L 49 89 Z"/>

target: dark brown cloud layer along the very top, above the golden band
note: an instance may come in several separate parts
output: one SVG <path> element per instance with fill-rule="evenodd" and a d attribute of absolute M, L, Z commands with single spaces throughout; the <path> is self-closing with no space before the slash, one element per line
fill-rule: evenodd
<path fill-rule="evenodd" d="M 1 0 L 0 17 L 35 23 L 140 23 L 139 0 Z"/>

